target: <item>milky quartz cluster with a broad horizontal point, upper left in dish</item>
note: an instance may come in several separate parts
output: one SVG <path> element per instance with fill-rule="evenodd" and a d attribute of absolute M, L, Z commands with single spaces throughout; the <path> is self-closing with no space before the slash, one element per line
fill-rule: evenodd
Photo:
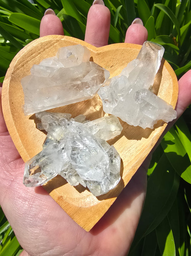
<path fill-rule="evenodd" d="M 24 114 L 34 114 L 91 99 L 109 71 L 90 62 L 90 51 L 82 45 L 58 49 L 57 55 L 33 65 L 22 78 Z"/>

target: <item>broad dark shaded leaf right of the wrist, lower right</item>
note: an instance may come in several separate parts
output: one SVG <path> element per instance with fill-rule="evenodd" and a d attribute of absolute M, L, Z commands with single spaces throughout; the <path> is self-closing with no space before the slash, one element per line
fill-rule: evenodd
<path fill-rule="evenodd" d="M 147 195 L 132 247 L 145 235 L 152 232 L 166 217 L 175 201 L 179 187 L 179 176 L 165 154 L 149 176 Z"/>

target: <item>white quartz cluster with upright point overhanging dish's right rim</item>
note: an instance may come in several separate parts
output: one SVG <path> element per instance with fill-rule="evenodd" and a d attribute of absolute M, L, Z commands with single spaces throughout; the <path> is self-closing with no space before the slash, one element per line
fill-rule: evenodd
<path fill-rule="evenodd" d="M 158 120 L 175 119 L 172 106 L 151 92 L 163 53 L 163 46 L 144 42 L 137 58 L 119 76 L 107 79 L 98 91 L 103 110 L 143 129 L 153 129 Z"/>

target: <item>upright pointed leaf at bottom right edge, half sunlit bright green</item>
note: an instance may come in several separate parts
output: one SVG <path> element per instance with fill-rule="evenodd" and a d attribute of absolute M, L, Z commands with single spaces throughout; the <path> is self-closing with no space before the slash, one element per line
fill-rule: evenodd
<path fill-rule="evenodd" d="M 165 217 L 156 228 L 158 246 L 162 256 L 176 256 L 175 241 L 168 218 Z"/>

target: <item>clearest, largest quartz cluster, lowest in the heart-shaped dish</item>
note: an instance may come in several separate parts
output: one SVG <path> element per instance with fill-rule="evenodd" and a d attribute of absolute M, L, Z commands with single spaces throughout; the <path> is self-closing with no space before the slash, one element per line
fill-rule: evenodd
<path fill-rule="evenodd" d="M 41 121 L 38 127 L 48 134 L 42 151 L 25 164 L 25 186 L 43 185 L 59 174 L 70 185 L 80 183 L 100 196 L 119 183 L 120 156 L 106 142 L 123 129 L 117 117 L 87 121 L 83 115 L 71 118 L 71 114 L 46 111 L 36 117 Z"/>

